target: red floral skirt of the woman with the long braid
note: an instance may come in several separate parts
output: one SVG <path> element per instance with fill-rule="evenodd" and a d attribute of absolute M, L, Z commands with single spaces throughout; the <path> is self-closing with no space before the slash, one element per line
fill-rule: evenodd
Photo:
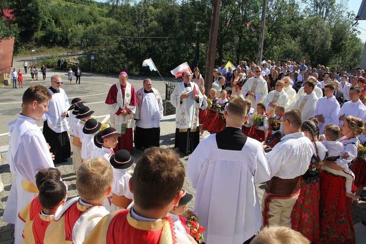
<path fill-rule="evenodd" d="M 300 195 L 291 213 L 291 228 L 310 242 L 319 240 L 319 181 L 305 182 L 300 177 Z"/>

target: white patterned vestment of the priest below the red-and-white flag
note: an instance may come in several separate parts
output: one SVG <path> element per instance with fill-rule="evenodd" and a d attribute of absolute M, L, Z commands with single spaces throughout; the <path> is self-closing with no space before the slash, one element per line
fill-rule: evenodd
<path fill-rule="evenodd" d="M 199 105 L 202 104 L 203 95 L 197 84 L 190 82 L 190 85 L 190 87 L 184 88 L 184 82 L 178 84 L 171 95 L 171 103 L 175 107 L 175 124 L 179 132 L 186 132 L 187 129 L 195 132 L 199 126 Z M 192 89 L 195 89 L 199 95 L 199 102 L 194 99 L 194 91 Z M 181 100 L 181 95 L 184 92 L 189 96 Z"/>

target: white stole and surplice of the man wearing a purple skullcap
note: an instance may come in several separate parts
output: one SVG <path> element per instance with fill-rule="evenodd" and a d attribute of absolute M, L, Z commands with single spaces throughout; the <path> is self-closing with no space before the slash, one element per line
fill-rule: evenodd
<path fill-rule="evenodd" d="M 126 88 L 124 90 L 124 99 L 122 95 L 122 89 L 120 82 L 116 83 L 116 87 L 118 89 L 117 92 L 117 103 L 108 105 L 110 111 L 110 120 L 111 120 L 111 127 L 115 128 L 121 134 L 126 133 L 127 128 L 134 128 L 135 121 L 133 119 L 133 114 L 136 111 L 136 106 L 130 106 L 131 102 L 131 84 L 126 83 Z M 116 112 L 119 108 L 128 108 L 131 113 L 126 116 L 117 115 Z"/>

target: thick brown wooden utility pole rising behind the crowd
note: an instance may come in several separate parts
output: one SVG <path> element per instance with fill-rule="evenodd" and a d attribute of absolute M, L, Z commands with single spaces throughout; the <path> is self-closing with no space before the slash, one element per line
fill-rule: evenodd
<path fill-rule="evenodd" d="M 206 72 L 204 75 L 204 89 L 208 92 L 212 86 L 212 74 L 215 66 L 215 55 L 217 45 L 217 35 L 219 32 L 221 0 L 214 0 L 212 5 L 212 16 L 210 25 L 210 36 L 208 37 Z"/>

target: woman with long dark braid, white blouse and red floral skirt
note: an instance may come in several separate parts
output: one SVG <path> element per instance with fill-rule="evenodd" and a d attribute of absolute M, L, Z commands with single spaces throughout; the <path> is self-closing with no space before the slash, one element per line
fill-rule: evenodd
<path fill-rule="evenodd" d="M 319 172 L 323 165 L 326 149 L 318 142 L 319 127 L 314 121 L 306 120 L 301 131 L 314 143 L 316 154 L 311 157 L 309 169 L 300 177 L 300 195 L 291 213 L 291 227 L 299 231 L 310 242 L 319 240 Z"/>

